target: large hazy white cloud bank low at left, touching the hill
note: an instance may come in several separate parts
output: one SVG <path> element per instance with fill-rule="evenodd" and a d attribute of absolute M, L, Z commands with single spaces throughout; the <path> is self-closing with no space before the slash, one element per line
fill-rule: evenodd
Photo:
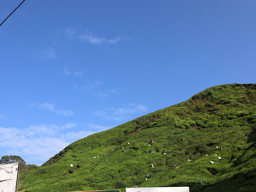
<path fill-rule="evenodd" d="M 42 164 L 70 143 L 95 132 L 76 131 L 76 124 L 29 125 L 24 129 L 0 127 L 0 150 L 4 155 L 17 155 L 28 164 Z M 63 132 L 63 129 L 67 129 Z"/>

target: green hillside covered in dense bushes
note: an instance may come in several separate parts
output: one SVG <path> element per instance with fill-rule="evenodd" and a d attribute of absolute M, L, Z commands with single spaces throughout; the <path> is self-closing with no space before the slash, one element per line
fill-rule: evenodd
<path fill-rule="evenodd" d="M 255 191 L 255 143 L 256 84 L 214 86 L 68 145 L 36 170 L 20 174 L 19 190 Z"/>

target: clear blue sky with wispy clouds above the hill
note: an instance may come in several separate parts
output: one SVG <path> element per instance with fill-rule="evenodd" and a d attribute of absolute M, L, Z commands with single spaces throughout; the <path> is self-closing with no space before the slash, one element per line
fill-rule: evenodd
<path fill-rule="evenodd" d="M 1 21 L 21 1 L 0 1 Z M 218 84 L 255 83 L 256 1 L 25 1 L 0 27 L 0 156 L 68 144 Z"/>

